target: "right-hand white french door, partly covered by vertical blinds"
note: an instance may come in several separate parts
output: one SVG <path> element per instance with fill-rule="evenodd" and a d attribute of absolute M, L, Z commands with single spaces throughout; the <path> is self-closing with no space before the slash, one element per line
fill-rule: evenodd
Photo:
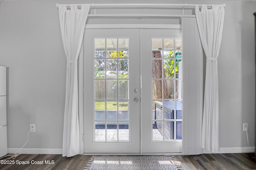
<path fill-rule="evenodd" d="M 181 30 L 143 29 L 140 37 L 141 152 L 181 152 Z"/>

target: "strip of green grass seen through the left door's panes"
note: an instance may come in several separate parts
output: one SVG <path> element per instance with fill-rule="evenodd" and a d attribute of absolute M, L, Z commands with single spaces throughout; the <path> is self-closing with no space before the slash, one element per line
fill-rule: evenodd
<path fill-rule="evenodd" d="M 117 110 L 117 102 L 106 102 L 107 110 Z M 119 102 L 119 110 L 128 110 L 128 102 Z M 105 110 L 105 102 L 95 102 L 95 110 Z"/>

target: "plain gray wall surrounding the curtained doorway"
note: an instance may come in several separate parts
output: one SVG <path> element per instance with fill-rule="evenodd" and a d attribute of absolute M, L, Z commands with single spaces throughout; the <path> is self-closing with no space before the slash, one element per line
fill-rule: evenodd
<path fill-rule="evenodd" d="M 126 3 L 143 3 L 128 0 Z M 105 3 L 104 0 L 27 0 L 2 2 L 0 64 L 8 66 L 8 148 L 62 148 L 66 59 L 56 3 Z M 111 0 L 108 3 L 120 3 Z M 154 0 L 147 3 L 155 3 Z M 218 60 L 220 147 L 248 147 L 242 123 L 249 123 L 254 146 L 256 2 L 160 0 L 158 3 L 226 3 Z"/>

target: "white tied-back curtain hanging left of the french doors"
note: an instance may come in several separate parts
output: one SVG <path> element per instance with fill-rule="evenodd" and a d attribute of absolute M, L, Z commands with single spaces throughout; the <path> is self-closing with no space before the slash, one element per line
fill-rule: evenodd
<path fill-rule="evenodd" d="M 78 67 L 77 60 L 84 37 L 84 29 L 90 6 L 60 4 L 60 30 L 67 59 L 66 100 L 64 111 L 64 129 L 62 156 L 74 156 L 80 153 L 78 121 Z"/>

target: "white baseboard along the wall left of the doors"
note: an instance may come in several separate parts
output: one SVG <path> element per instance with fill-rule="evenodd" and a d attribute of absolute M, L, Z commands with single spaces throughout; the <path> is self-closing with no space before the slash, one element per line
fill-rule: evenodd
<path fill-rule="evenodd" d="M 20 148 L 8 148 L 9 154 L 16 153 Z M 22 154 L 62 154 L 62 149 L 39 149 L 39 148 L 23 148 L 18 153 Z"/>

